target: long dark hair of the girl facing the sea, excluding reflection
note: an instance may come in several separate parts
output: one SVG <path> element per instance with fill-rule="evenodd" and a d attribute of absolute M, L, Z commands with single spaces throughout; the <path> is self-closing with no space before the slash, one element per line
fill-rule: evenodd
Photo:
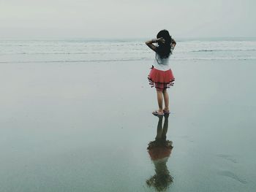
<path fill-rule="evenodd" d="M 165 43 L 158 42 L 157 53 L 159 54 L 160 58 L 168 58 L 169 55 L 172 54 L 170 45 L 173 42 L 173 39 L 166 29 L 159 31 L 157 34 L 157 39 L 161 37 L 165 39 Z"/>

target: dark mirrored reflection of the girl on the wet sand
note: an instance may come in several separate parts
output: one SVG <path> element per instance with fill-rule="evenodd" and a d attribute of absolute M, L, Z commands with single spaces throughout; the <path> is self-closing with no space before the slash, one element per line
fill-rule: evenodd
<path fill-rule="evenodd" d="M 165 191 L 173 182 L 173 177 L 167 169 L 166 163 L 173 149 L 173 142 L 166 140 L 169 115 L 165 115 L 164 126 L 162 126 L 163 117 L 158 117 L 157 137 L 154 141 L 148 143 L 148 154 L 155 166 L 155 172 L 152 177 L 146 180 L 149 187 L 154 187 L 157 191 Z"/>

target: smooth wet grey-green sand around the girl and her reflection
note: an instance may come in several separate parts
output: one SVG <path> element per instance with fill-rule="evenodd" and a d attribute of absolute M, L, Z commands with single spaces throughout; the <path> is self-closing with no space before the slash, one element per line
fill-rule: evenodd
<path fill-rule="evenodd" d="M 1 64 L 0 191 L 155 191 L 150 67 Z M 167 191 L 255 191 L 255 61 L 172 69 Z"/>

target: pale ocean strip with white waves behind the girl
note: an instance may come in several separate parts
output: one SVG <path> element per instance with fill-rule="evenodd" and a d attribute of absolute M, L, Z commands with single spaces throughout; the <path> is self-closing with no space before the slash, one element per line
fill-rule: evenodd
<path fill-rule="evenodd" d="M 0 63 L 88 63 L 154 58 L 146 39 L 0 40 Z M 176 39 L 173 60 L 255 60 L 256 38 Z"/>

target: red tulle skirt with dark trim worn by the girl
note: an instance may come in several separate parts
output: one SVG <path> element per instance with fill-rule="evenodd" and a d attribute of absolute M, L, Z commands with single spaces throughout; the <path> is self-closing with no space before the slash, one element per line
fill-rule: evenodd
<path fill-rule="evenodd" d="M 149 85 L 151 85 L 151 88 L 155 87 L 159 91 L 173 86 L 174 80 L 175 78 L 171 69 L 168 69 L 167 71 L 161 71 L 155 69 L 153 66 L 151 72 L 148 74 Z"/>

